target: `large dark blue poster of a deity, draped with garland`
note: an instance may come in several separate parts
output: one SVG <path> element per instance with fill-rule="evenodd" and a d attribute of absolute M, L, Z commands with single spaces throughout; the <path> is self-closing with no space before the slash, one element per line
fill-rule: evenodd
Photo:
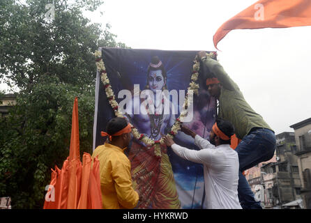
<path fill-rule="evenodd" d="M 124 151 L 131 163 L 133 187 L 141 199 L 137 208 L 204 208 L 202 164 L 183 160 L 165 144 L 158 144 L 157 152 L 156 146 L 140 140 L 159 141 L 171 131 L 183 109 L 197 52 L 103 47 L 99 52 L 109 84 L 98 72 L 93 150 L 107 140 L 100 132 L 106 131 L 107 122 L 115 117 L 114 109 L 118 109 L 141 135 L 133 137 Z M 215 98 L 208 95 L 204 78 L 197 84 L 199 91 L 192 94 L 193 103 L 183 125 L 208 139 L 215 121 Z M 108 85 L 113 97 L 107 97 Z M 112 99 L 118 102 L 117 107 L 109 102 Z M 194 139 L 181 131 L 174 135 L 174 141 L 199 150 Z"/>

